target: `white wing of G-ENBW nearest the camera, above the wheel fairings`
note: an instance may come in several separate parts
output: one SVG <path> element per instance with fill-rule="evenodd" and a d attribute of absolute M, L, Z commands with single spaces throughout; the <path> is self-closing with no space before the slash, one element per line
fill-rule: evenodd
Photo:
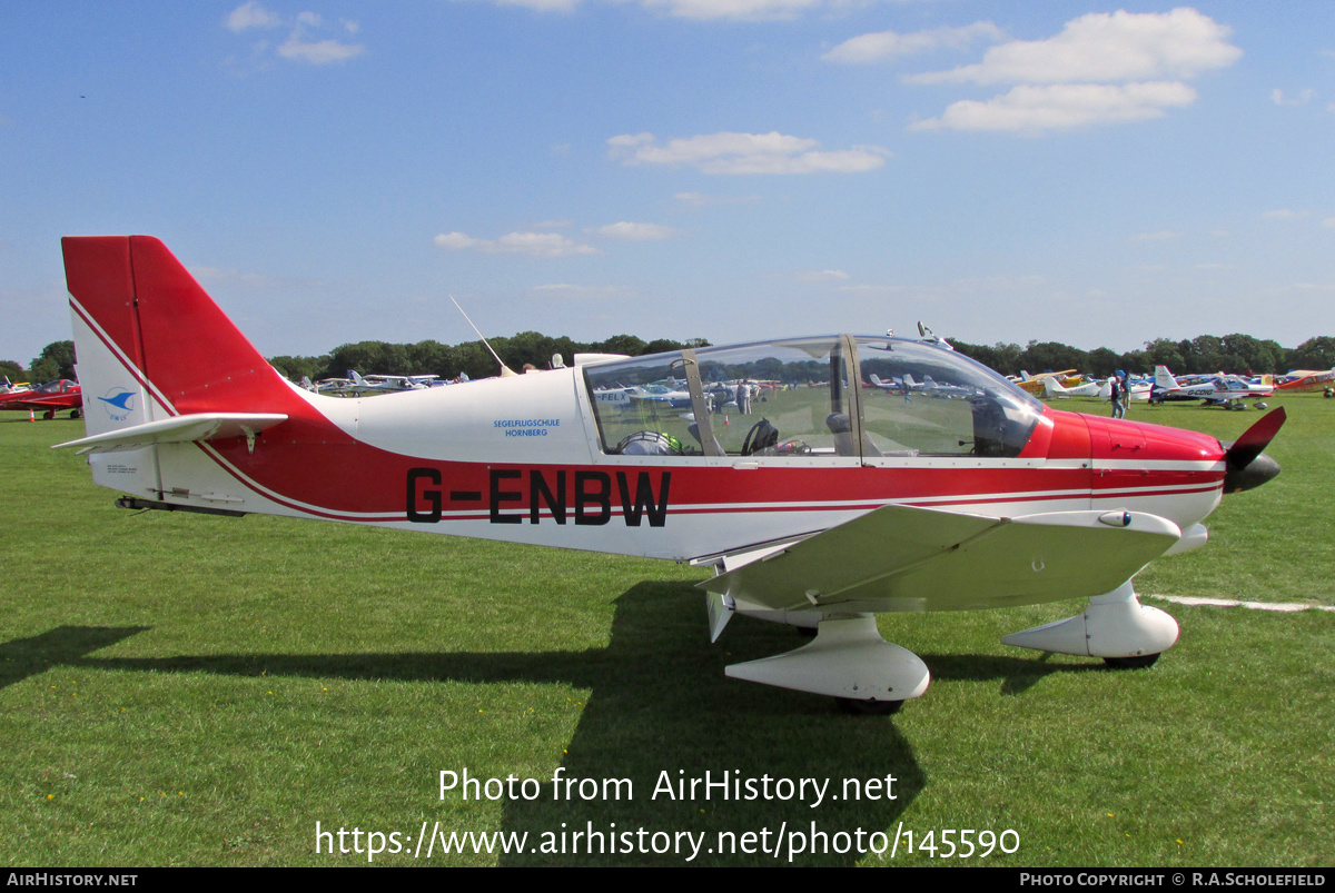
<path fill-rule="evenodd" d="M 1181 531 L 1135 511 L 1017 518 L 882 506 L 700 586 L 774 610 L 949 611 L 1099 595 Z"/>

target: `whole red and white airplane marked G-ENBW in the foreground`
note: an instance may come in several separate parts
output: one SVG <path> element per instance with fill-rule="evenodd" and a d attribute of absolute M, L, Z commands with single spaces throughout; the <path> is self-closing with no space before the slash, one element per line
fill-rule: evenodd
<path fill-rule="evenodd" d="M 120 505 L 267 513 L 709 566 L 717 635 L 733 614 L 814 629 L 728 675 L 893 711 L 928 667 L 878 611 L 1088 598 L 1003 639 L 1145 666 L 1177 623 L 1132 578 L 1204 545 L 1226 491 L 1279 467 L 1283 410 L 1232 446 L 1061 412 L 953 351 L 830 335 L 595 362 L 466 386 L 339 399 L 278 374 L 167 248 L 64 239 L 93 479 Z M 951 399 L 869 399 L 870 374 Z M 594 399 L 676 376 L 693 411 Z M 706 383 L 776 386 L 746 418 Z M 758 420 L 754 416 L 761 416 Z M 348 470 L 355 470 L 350 473 Z"/>

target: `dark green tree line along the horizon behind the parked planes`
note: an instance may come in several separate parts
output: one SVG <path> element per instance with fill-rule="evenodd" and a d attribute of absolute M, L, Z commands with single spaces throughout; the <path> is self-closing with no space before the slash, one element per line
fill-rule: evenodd
<path fill-rule="evenodd" d="M 965 356 L 972 356 L 1003 375 L 1016 375 L 1021 370 L 1032 374 L 1075 368 L 1105 378 L 1116 370 L 1152 372 L 1155 366 L 1167 366 L 1173 372 L 1181 374 L 1228 371 L 1254 375 L 1287 372 L 1291 368 L 1335 368 L 1335 338 L 1330 335 L 1308 338 L 1292 348 L 1242 334 L 1197 335 L 1184 340 L 1156 338 L 1145 342 L 1144 348 L 1125 354 L 1107 347 L 1085 351 L 1059 342 L 1032 340 L 1028 346 L 1020 347 L 1003 342 L 988 346 L 969 344 L 955 338 L 948 340 Z M 602 342 L 575 342 L 565 335 L 551 338 L 541 332 L 519 332 L 511 338 L 497 336 L 490 342 L 506 366 L 515 371 L 525 363 L 547 368 L 553 354 L 561 354 L 565 363 L 570 364 L 575 354 L 585 352 L 643 356 L 684 347 L 709 346 L 702 338 L 685 342 L 659 338 L 646 342 L 635 335 L 613 335 Z M 322 378 L 343 378 L 350 368 L 363 375 L 439 375 L 441 378 L 458 378 L 459 372 L 467 374 L 469 378 L 486 378 L 498 372 L 495 359 L 482 342 L 449 346 L 437 340 L 415 344 L 367 340 L 340 344 L 323 356 L 271 356 L 268 362 L 294 382 L 299 382 L 302 376 L 308 376 L 312 382 Z M 12 382 L 33 383 L 59 378 L 72 379 L 75 344 L 69 340 L 47 344 L 28 368 L 15 360 L 0 360 L 0 376 L 8 376 Z"/>

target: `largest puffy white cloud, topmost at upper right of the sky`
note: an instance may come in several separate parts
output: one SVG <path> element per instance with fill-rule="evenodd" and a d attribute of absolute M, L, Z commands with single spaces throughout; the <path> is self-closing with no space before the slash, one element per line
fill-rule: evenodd
<path fill-rule="evenodd" d="M 914 75 L 916 84 L 1061 84 L 1195 77 L 1227 68 L 1243 51 L 1226 41 L 1231 28 L 1195 9 L 1091 12 L 1047 40 L 992 47 L 983 61 Z"/>

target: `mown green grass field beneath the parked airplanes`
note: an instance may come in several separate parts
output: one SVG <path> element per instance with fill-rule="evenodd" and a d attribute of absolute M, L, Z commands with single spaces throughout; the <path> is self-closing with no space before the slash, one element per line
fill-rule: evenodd
<path fill-rule="evenodd" d="M 1335 605 L 1335 400 L 1276 403 L 1290 422 L 1268 453 L 1283 474 L 1227 498 L 1210 545 L 1153 565 L 1143 594 Z M 1232 439 L 1259 414 L 1136 404 L 1131 416 Z M 571 854 L 590 824 L 705 833 L 705 849 L 730 832 L 737 853 L 694 864 L 766 865 L 773 854 L 741 852 L 744 833 L 773 848 L 780 829 L 810 838 L 813 822 L 825 852 L 794 864 L 957 865 L 944 858 L 947 829 L 975 829 L 975 844 L 980 830 L 1013 832 L 1012 853 L 972 865 L 1335 864 L 1335 613 L 1147 598 L 1183 633 L 1143 671 L 999 643 L 1077 602 L 882 615 L 932 687 L 894 717 L 845 717 L 826 698 L 725 678 L 726 663 L 798 641 L 738 618 L 710 646 L 696 569 L 135 514 L 112 507 L 79 457 L 47 449 L 81 435 L 80 422 L 20 419 L 0 414 L 7 865 L 367 864 L 316 854 L 316 822 L 356 828 L 363 850 L 366 832 L 398 833 L 411 850 L 423 824 L 557 849 L 445 856 L 437 844 L 430 861 L 423 845 L 423 858 L 386 852 L 376 865 L 686 861 Z M 465 769 L 537 780 L 537 800 L 442 798 L 441 770 Z M 893 776 L 894 798 L 654 797 L 661 773 L 706 770 L 828 778 L 836 793 Z M 581 800 L 575 785 L 555 800 L 557 772 L 629 780 L 631 796 L 598 785 Z M 930 832 L 939 849 L 909 854 L 901 837 L 893 858 L 877 856 L 837 836 L 857 829 L 912 830 L 918 845 Z M 542 837 L 562 833 L 565 853 Z"/>

